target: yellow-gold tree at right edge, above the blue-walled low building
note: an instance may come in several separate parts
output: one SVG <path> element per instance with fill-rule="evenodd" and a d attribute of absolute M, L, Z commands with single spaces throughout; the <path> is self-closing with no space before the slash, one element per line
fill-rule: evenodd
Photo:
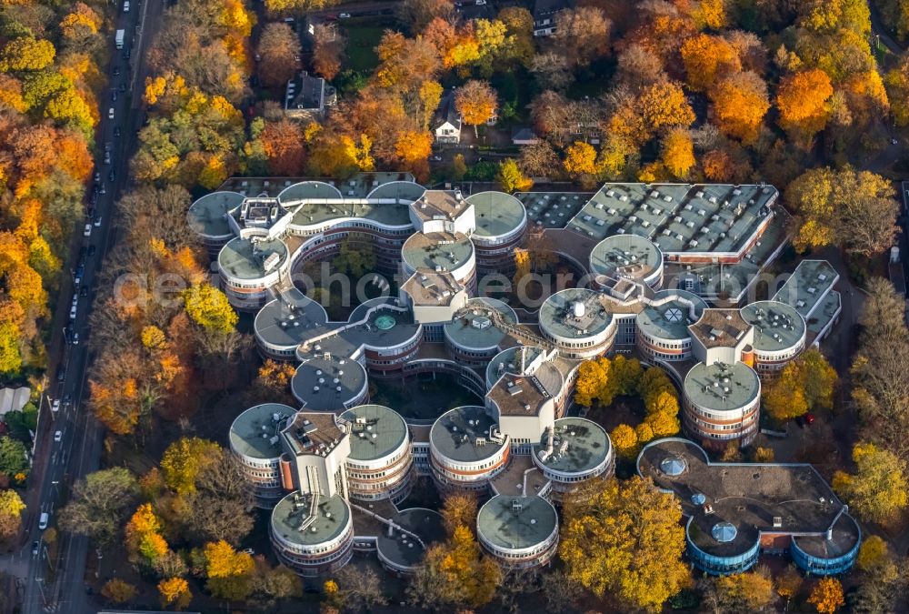
<path fill-rule="evenodd" d="M 867 522 L 893 522 L 909 505 L 905 463 L 873 443 L 853 448 L 855 473 L 834 474 L 834 490 Z"/>

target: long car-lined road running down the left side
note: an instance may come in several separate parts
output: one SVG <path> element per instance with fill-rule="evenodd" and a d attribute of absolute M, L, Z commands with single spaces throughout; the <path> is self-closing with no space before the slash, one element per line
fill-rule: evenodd
<path fill-rule="evenodd" d="M 91 359 L 88 341 L 88 317 L 96 279 L 115 232 L 115 200 L 127 185 L 128 162 L 136 146 L 136 134 L 142 126 L 144 112 L 142 91 L 145 84 L 145 47 L 153 34 L 145 27 L 156 27 L 164 12 L 165 0 L 134 0 L 132 10 L 118 8 L 115 29 L 125 30 L 125 45 L 115 49 L 110 35 L 111 62 L 107 67 L 108 89 L 99 96 L 101 123 L 95 135 L 95 170 L 99 176 L 86 196 L 92 196 L 94 212 L 79 222 L 75 230 L 71 262 L 82 267 L 81 279 L 75 275 L 62 284 L 60 305 L 55 315 L 49 364 L 52 383 L 47 386 L 40 408 L 35 457 L 30 490 L 26 495 L 25 539 L 21 549 L 0 559 L 0 569 L 16 578 L 18 597 L 24 614 L 96 612 L 85 591 L 88 540 L 58 532 L 57 548 L 43 542 L 44 531 L 38 528 L 42 513 L 49 516 L 50 526 L 65 504 L 65 496 L 76 480 L 99 467 L 102 428 L 83 405 L 85 369 Z M 138 27 L 137 27 L 138 26 Z M 128 57 L 127 57 L 128 52 Z M 109 114 L 113 110 L 113 119 Z M 105 163 L 105 151 L 111 159 Z M 101 190 L 104 193 L 101 193 Z M 92 206 L 91 203 L 86 204 Z M 90 235 L 85 236 L 85 225 Z M 75 297 L 75 319 L 70 317 L 70 299 Z M 71 343 L 78 333 L 78 342 Z M 55 404 L 59 403 L 56 411 Z M 59 438 L 59 441 L 56 439 Z M 38 554 L 33 554 L 33 544 Z M 92 556 L 96 556 L 92 553 Z"/>

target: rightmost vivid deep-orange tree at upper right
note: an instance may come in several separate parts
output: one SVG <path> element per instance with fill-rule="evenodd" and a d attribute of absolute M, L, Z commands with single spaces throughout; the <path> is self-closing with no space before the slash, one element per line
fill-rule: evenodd
<path fill-rule="evenodd" d="M 834 88 L 824 71 L 808 70 L 784 76 L 776 92 L 780 126 L 790 133 L 798 146 L 808 149 L 814 135 L 827 123 L 827 100 Z"/>

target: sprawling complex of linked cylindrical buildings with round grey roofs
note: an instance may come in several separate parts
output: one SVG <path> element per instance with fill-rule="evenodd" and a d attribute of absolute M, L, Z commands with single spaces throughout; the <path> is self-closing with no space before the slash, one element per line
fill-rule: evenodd
<path fill-rule="evenodd" d="M 664 367 L 683 393 L 684 432 L 704 448 L 751 443 L 762 380 L 839 315 L 837 276 L 821 261 L 801 263 L 770 300 L 737 307 L 785 244 L 776 198 L 772 186 L 675 184 L 465 195 L 376 173 L 337 183 L 235 179 L 197 200 L 190 225 L 216 255 L 231 303 L 255 312 L 261 353 L 298 364 L 300 408 L 249 408 L 230 430 L 256 500 L 274 508 L 277 556 L 305 576 L 338 569 L 355 550 L 412 572 L 442 535 L 434 511 L 398 508 L 425 476 L 443 493 L 492 496 L 477 539 L 494 559 L 545 564 L 558 545 L 554 504 L 614 471 L 604 428 L 571 411 L 577 368 L 591 357 L 631 352 Z M 573 283 L 534 310 L 484 297 L 487 277 L 510 283 L 514 250 L 529 236 L 573 269 Z M 382 296 L 331 321 L 295 273 L 345 244 L 373 250 L 377 270 L 352 285 Z M 371 378 L 426 373 L 450 374 L 483 400 L 429 420 L 369 404 Z M 684 475 L 713 471 L 688 445 Z M 660 479 L 672 476 L 659 473 L 662 461 L 642 462 L 643 475 L 684 495 L 681 480 Z M 834 538 L 844 522 L 829 523 Z M 793 529 L 798 538 L 759 547 L 826 560 L 832 538 L 818 531 L 809 539 Z M 712 552 L 689 539 L 695 547 Z"/>

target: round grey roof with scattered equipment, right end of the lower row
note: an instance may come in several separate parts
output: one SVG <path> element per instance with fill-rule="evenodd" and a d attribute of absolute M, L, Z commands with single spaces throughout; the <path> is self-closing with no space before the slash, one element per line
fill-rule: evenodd
<path fill-rule="evenodd" d="M 546 449 L 546 436 L 534 444 L 534 455 L 539 458 L 540 450 Z M 557 452 L 567 444 L 563 454 Z M 599 466 L 609 456 L 612 443 L 603 427 L 584 418 L 561 418 L 555 420 L 555 454 L 542 463 L 555 471 L 583 473 Z"/>

